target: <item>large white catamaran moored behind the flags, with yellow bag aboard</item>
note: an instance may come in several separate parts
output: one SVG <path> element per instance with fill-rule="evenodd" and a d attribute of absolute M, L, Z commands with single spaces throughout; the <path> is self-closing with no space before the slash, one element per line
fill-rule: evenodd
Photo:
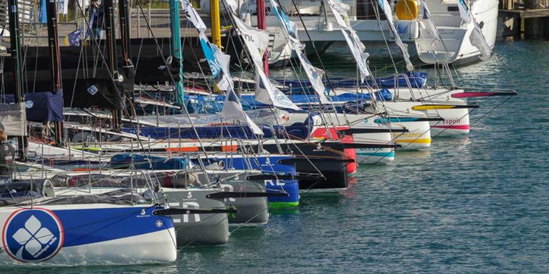
<path fill-rule="evenodd" d="M 290 20 L 297 23 L 299 36 L 303 42 L 310 43 L 310 41 L 314 41 L 317 51 L 322 54 L 333 42 L 345 41 L 330 9 L 324 8 L 323 1 L 294 1 L 297 4 L 299 13 L 302 15 L 301 19 L 297 16 L 297 10 L 291 0 L 280 0 L 280 3 Z M 458 6 L 460 2 L 469 7 L 490 49 L 493 49 L 498 20 L 497 0 L 424 1 L 430 10 L 430 18 L 442 39 L 437 43 L 433 43 L 433 36 L 427 30 L 428 19 L 425 17 L 422 1 L 389 1 L 394 18 L 393 24 L 396 26 L 398 35 L 407 44 L 415 45 L 417 55 L 422 62 L 427 64 L 449 62 L 468 64 L 480 61 L 480 51 L 470 41 L 470 34 L 475 26 L 461 19 Z M 375 10 L 377 1 L 344 0 L 343 2 L 351 7 L 349 11 L 351 26 L 357 31 L 362 41 L 391 41 L 395 39 L 383 12 Z M 267 10 L 269 10 L 268 1 Z M 249 21 L 252 26 L 257 25 L 255 0 L 241 2 L 239 14 L 243 19 Z M 270 33 L 269 64 L 272 66 L 285 65 L 287 59 L 292 57 L 291 51 L 288 49 L 287 39 L 282 36 L 280 24 L 269 13 L 267 13 L 267 26 Z M 313 50 L 312 46 L 307 46 L 307 49 Z"/>

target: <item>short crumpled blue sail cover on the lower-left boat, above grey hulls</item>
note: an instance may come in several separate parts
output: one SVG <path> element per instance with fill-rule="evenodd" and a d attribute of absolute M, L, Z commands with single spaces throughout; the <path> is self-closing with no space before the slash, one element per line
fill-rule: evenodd
<path fill-rule="evenodd" d="M 128 169 L 130 166 L 144 170 L 182 170 L 189 166 L 187 158 L 166 158 L 142 154 L 121 153 L 111 158 L 111 168 Z"/>

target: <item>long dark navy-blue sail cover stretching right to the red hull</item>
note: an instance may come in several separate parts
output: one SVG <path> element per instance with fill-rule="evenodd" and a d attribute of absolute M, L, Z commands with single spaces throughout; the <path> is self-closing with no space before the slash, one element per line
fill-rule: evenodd
<path fill-rule="evenodd" d="M 184 138 L 184 139 L 217 139 L 217 138 L 240 138 L 254 140 L 257 138 L 249 126 L 197 126 L 197 134 L 193 128 L 167 128 L 167 127 L 140 127 L 139 135 L 154 138 Z M 264 133 L 263 138 L 294 138 L 305 139 L 310 135 L 311 129 L 308 123 L 294 123 L 292 126 L 273 126 L 274 131 L 269 126 L 261 126 Z M 137 133 L 134 128 L 122 128 L 122 131 L 127 133 Z"/>

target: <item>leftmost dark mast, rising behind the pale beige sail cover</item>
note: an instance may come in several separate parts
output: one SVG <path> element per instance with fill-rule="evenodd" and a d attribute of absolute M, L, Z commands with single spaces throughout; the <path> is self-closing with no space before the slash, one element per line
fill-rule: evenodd
<path fill-rule="evenodd" d="M 23 97 L 23 78 L 21 71 L 21 50 L 19 49 L 19 11 L 17 0 L 8 0 L 8 16 L 9 16 L 9 44 L 11 46 L 11 58 L 13 61 L 14 71 L 14 101 L 21 103 Z M 26 161 L 26 138 L 25 136 L 17 136 L 17 154 L 21 161 Z"/>

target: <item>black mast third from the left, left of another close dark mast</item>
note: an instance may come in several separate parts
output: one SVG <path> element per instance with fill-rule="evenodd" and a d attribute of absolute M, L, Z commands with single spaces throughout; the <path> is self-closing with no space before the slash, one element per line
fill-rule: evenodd
<path fill-rule="evenodd" d="M 114 31 L 114 7 L 112 0 L 104 0 L 103 3 L 105 16 L 105 34 L 107 35 L 107 67 L 115 82 L 119 81 L 118 64 L 117 64 L 117 37 Z M 122 93 L 120 94 L 122 98 Z M 122 125 L 122 111 L 119 109 L 112 110 L 112 127 L 117 130 Z"/>

